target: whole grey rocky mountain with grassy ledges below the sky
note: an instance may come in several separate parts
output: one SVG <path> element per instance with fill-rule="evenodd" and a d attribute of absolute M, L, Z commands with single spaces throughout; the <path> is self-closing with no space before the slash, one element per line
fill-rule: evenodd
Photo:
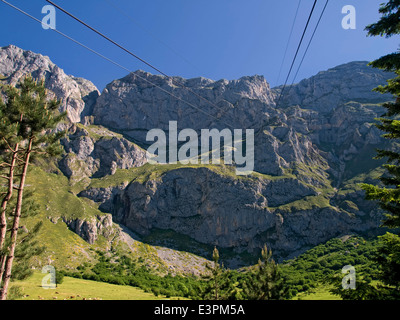
<path fill-rule="evenodd" d="M 288 86 L 277 105 L 282 87 L 262 76 L 214 81 L 136 71 L 99 95 L 47 57 L 15 46 L 0 57 L 8 83 L 31 73 L 63 99 L 70 123 L 57 167 L 76 195 L 138 238 L 169 230 L 199 246 L 251 254 L 266 243 L 285 258 L 332 237 L 378 231 L 381 213 L 357 183 L 382 172 L 372 157 L 385 141 L 373 123 L 391 97 L 372 89 L 392 75 L 367 62 Z M 254 129 L 253 174 L 238 176 L 232 165 L 147 163 L 147 132 L 167 131 L 170 121 L 198 133 Z M 108 218 L 63 221 L 91 242 L 109 232 Z"/>

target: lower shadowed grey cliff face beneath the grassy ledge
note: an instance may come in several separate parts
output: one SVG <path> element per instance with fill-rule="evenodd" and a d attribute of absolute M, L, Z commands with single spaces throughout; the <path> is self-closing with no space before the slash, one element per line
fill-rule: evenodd
<path fill-rule="evenodd" d="M 280 223 L 269 207 L 310 195 L 315 191 L 295 179 L 236 180 L 207 168 L 183 168 L 160 180 L 132 182 L 114 198 L 112 214 L 140 234 L 172 229 L 203 243 L 251 250 L 260 245 L 257 235 Z"/>

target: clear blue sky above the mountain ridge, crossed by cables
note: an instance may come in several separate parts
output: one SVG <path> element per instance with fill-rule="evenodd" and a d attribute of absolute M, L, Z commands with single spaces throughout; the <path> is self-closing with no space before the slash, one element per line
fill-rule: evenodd
<path fill-rule="evenodd" d="M 7 0 L 42 19 L 44 0 Z M 263 75 L 283 84 L 313 0 L 302 0 L 291 42 L 279 70 L 298 0 L 54 0 L 80 19 L 168 75 L 219 80 Z M 399 37 L 367 37 L 384 0 L 330 0 L 295 82 L 354 60 L 371 61 L 399 47 Z M 325 4 L 318 0 L 297 61 Z M 356 9 L 356 29 L 342 28 L 342 7 Z M 17 45 L 47 55 L 67 74 L 91 80 L 100 90 L 126 71 L 79 47 L 0 2 L 0 46 Z M 56 27 L 129 70 L 157 73 L 62 12 Z M 295 64 L 294 71 L 297 68 Z M 292 73 L 294 75 L 294 72 Z M 293 78 L 289 78 L 291 83 Z"/>

